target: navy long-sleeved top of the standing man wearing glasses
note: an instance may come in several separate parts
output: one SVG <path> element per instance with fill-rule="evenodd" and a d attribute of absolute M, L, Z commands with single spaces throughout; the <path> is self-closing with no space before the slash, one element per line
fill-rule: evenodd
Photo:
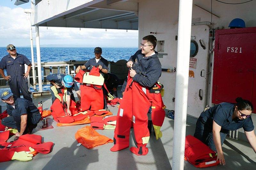
<path fill-rule="evenodd" d="M 137 74 L 134 75 L 133 80 L 140 83 L 144 87 L 152 87 L 162 74 L 162 66 L 157 57 L 158 53 L 144 57 L 141 49 L 130 57 L 129 61 L 133 62 L 132 69 Z"/>

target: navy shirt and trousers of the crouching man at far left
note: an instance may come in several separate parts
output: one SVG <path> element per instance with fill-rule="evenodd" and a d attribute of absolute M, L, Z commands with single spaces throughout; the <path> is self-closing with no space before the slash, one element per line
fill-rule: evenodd
<path fill-rule="evenodd" d="M 16 96 L 13 97 L 15 109 L 12 107 L 12 105 L 6 104 L 7 114 L 9 115 L 9 117 L 3 118 L 1 124 L 7 127 L 18 129 L 18 132 L 20 132 L 20 116 L 23 114 L 28 114 L 27 126 L 32 124 L 38 124 L 42 117 L 34 103 L 23 98 L 19 98 Z"/>

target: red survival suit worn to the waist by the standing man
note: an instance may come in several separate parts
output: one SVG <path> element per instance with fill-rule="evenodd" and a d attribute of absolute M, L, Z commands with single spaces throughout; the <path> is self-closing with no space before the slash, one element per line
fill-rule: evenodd
<path fill-rule="evenodd" d="M 158 86 L 157 86 L 158 87 Z M 111 151 L 119 151 L 129 147 L 131 121 L 133 121 L 134 135 L 138 148 L 132 147 L 130 151 L 136 155 L 146 155 L 149 140 L 148 109 L 152 105 L 152 123 L 156 139 L 162 137 L 160 127 L 164 122 L 165 112 L 161 94 L 149 92 L 148 87 L 132 81 L 128 75 L 127 85 L 122 102 L 117 113 L 114 146 Z"/>

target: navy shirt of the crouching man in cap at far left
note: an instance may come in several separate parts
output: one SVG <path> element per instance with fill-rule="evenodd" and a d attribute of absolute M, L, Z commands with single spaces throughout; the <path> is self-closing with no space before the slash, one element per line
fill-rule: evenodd
<path fill-rule="evenodd" d="M 20 111 L 20 116 L 23 114 L 28 114 L 28 117 L 31 118 L 33 113 L 39 112 L 39 110 L 37 109 L 34 103 L 23 98 L 19 98 L 16 96 L 13 96 L 13 97 L 14 97 L 15 109 Z M 6 108 L 7 108 L 7 114 L 12 116 L 12 110 L 14 110 L 12 105 L 6 104 Z"/>

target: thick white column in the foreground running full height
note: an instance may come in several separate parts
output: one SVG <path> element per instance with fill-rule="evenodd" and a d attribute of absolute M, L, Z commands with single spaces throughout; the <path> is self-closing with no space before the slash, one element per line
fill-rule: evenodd
<path fill-rule="evenodd" d="M 183 170 L 193 0 L 180 0 L 172 169 Z"/>

